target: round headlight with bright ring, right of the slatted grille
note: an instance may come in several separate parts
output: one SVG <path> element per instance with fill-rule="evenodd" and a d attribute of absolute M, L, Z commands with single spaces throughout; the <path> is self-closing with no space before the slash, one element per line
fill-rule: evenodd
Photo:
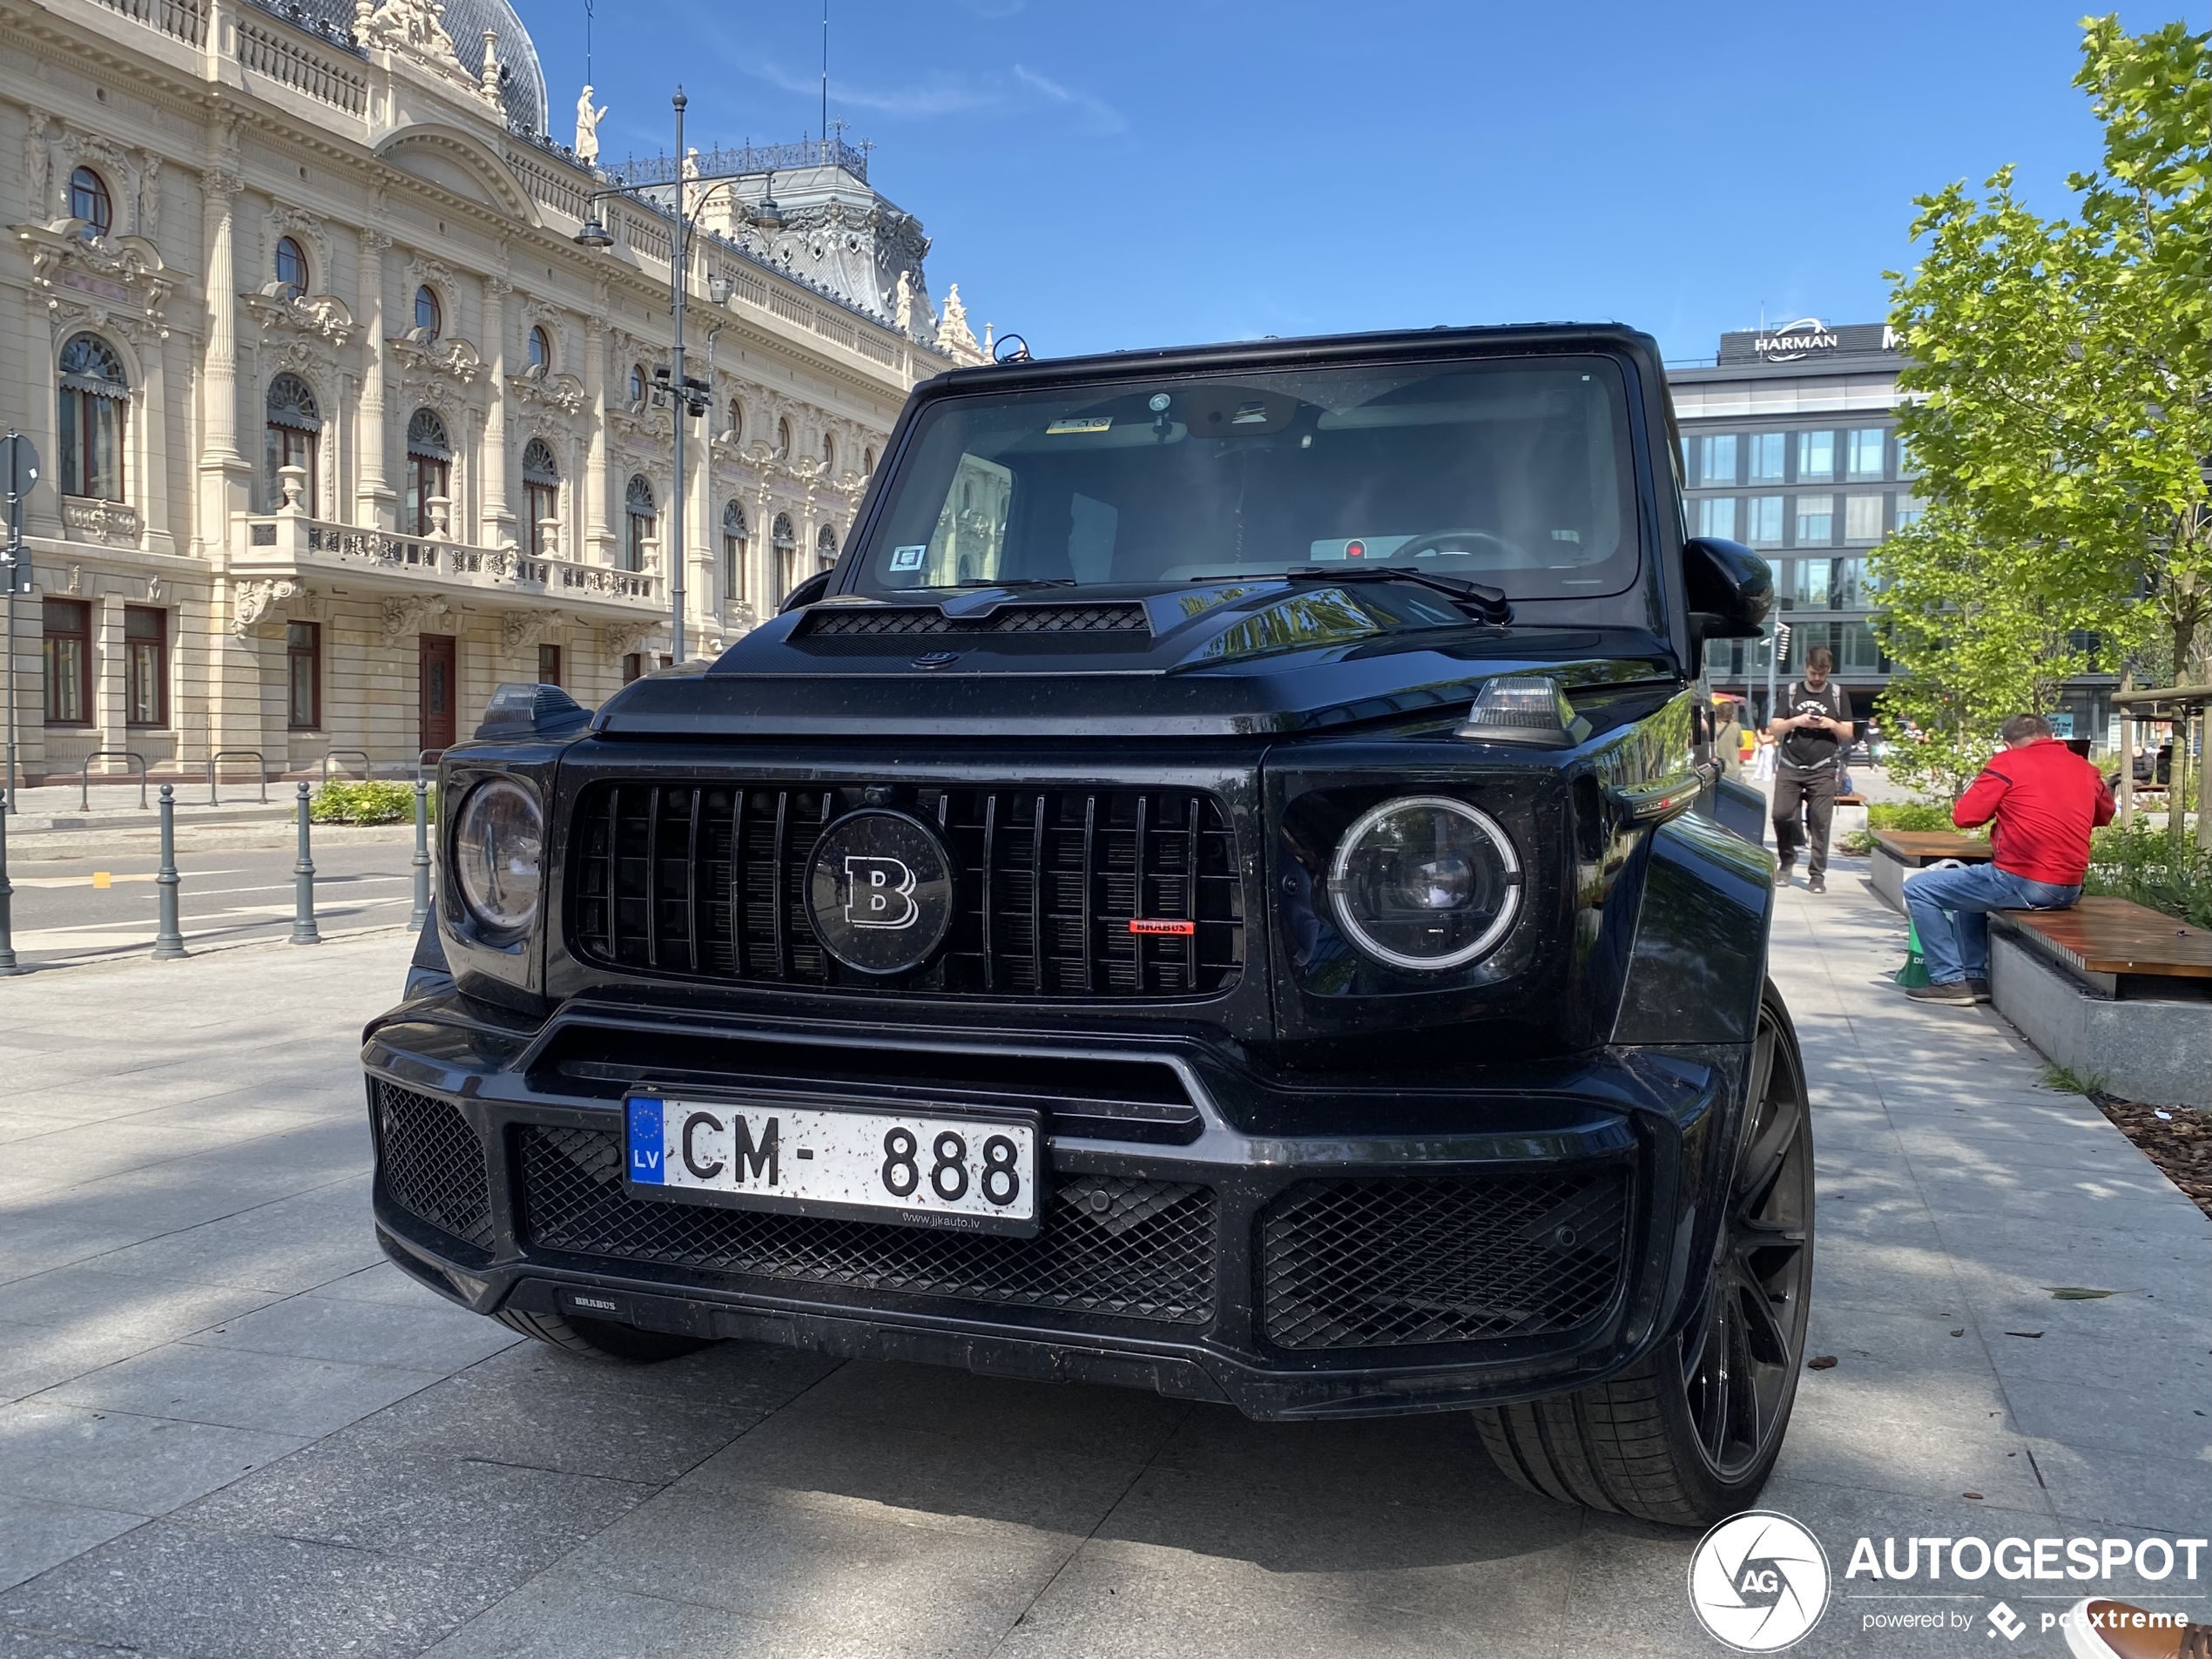
<path fill-rule="evenodd" d="M 1520 880 L 1506 832 L 1440 794 L 1383 803 L 1329 860 L 1329 898 L 1352 942 L 1427 973 L 1467 967 L 1502 940 L 1520 911 Z"/>

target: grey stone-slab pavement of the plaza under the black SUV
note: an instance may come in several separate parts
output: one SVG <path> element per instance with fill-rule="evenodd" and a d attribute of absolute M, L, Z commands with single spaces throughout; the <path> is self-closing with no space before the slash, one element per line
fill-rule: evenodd
<path fill-rule="evenodd" d="M 1840 1573 L 1863 1533 L 2208 1535 L 2212 1228 L 1993 1013 L 1887 987 L 1900 933 L 1849 858 L 1776 925 L 1838 1360 L 1765 1495 L 1838 1573 L 1796 1652 L 2062 1652 L 2037 1619 L 2079 1586 Z M 354 1048 L 405 956 L 0 984 L 4 1652 L 1717 1652 L 1694 1540 L 1520 1493 L 1467 1418 L 737 1345 L 613 1369 L 436 1301 L 367 1217 Z M 2203 1579 L 2115 1588 L 2205 1617 Z M 1898 1606 L 1973 1628 L 1863 1632 Z"/>

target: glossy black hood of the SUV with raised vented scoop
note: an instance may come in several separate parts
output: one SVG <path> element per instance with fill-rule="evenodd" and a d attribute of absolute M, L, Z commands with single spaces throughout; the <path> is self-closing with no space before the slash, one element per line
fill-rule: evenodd
<path fill-rule="evenodd" d="M 1677 679 L 1637 628 L 1407 624 L 1411 584 L 830 599 L 626 686 L 606 737 L 1239 737 L 1440 719 L 1482 681 Z M 1442 611 L 1440 595 L 1425 604 Z M 1416 611 L 1418 615 L 1418 611 Z"/>

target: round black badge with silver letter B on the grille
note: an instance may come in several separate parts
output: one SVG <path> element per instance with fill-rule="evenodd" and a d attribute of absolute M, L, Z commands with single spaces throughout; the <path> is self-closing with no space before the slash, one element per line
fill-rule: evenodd
<path fill-rule="evenodd" d="M 814 843 L 807 918 L 838 962 L 860 973 L 907 973 L 953 925 L 953 863 L 920 818 L 849 812 Z"/>

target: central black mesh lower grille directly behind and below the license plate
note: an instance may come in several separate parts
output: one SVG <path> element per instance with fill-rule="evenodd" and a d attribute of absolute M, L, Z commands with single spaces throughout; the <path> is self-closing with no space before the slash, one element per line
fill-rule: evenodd
<path fill-rule="evenodd" d="M 1053 1190 L 1040 1237 L 1000 1239 L 633 1199 L 617 1139 L 588 1128 L 524 1128 L 522 1186 L 529 1241 L 582 1256 L 1172 1325 L 1212 1318 L 1214 1194 L 1201 1186 L 1075 1175 Z"/>

